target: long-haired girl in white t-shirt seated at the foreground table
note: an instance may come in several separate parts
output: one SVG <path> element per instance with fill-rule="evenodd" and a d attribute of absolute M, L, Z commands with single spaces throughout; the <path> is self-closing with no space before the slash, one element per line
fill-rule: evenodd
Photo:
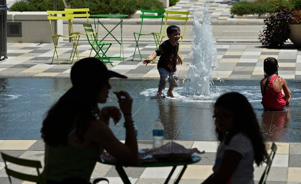
<path fill-rule="evenodd" d="M 219 145 L 213 174 L 203 184 L 254 184 L 253 163 L 261 165 L 267 151 L 251 104 L 238 92 L 225 93 L 213 119 Z"/>

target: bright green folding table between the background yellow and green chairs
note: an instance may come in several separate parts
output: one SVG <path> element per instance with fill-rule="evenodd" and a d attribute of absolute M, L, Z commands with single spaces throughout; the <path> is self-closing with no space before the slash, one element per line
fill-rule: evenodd
<path fill-rule="evenodd" d="M 105 41 L 105 38 L 109 35 L 111 35 L 115 41 L 120 45 L 120 55 L 119 57 L 109 57 L 111 60 L 122 60 L 124 61 L 124 52 L 123 52 L 123 42 L 122 42 L 122 23 L 123 23 L 123 17 L 127 17 L 129 15 L 123 15 L 123 14 L 104 14 L 104 15 L 90 15 L 91 18 L 94 18 L 94 25 L 95 25 L 95 30 L 97 33 L 99 33 L 99 24 L 102 26 L 104 30 L 106 30 L 106 35 L 99 41 Z M 103 23 L 101 22 L 100 18 L 120 18 L 120 21 L 117 22 L 115 27 L 113 27 L 111 30 L 109 30 Z M 95 21 L 97 19 L 97 22 Z M 97 25 L 97 27 L 96 27 Z M 118 26 L 120 25 L 120 40 L 116 38 L 116 35 L 112 33 Z M 122 56 L 122 57 L 121 57 Z"/>

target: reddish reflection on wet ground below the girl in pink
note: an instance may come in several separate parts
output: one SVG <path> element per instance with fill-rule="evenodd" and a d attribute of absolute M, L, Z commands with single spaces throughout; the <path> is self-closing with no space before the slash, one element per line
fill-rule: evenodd
<path fill-rule="evenodd" d="M 261 114 L 261 125 L 264 137 L 271 141 L 286 139 L 290 119 L 290 107 L 286 107 L 283 111 L 263 111 Z"/>

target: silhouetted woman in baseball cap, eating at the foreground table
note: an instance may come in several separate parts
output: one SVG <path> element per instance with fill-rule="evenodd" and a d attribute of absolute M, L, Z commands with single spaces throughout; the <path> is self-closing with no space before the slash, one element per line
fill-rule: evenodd
<path fill-rule="evenodd" d="M 95 58 L 82 59 L 72 66 L 72 87 L 50 108 L 41 129 L 45 141 L 43 176 L 47 184 L 89 184 L 103 150 L 126 164 L 137 161 L 131 96 L 124 91 L 114 92 L 119 108 L 98 107 L 107 101 L 111 77 L 127 78 L 109 71 Z M 109 119 L 117 123 L 121 113 L 125 119 L 125 143 L 109 128 Z"/>

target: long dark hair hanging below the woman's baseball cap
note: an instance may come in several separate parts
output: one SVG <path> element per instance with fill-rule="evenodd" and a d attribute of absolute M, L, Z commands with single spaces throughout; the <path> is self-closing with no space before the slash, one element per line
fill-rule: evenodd
<path fill-rule="evenodd" d="M 83 97 L 84 96 L 84 97 Z M 66 144 L 69 133 L 75 133 L 84 140 L 89 122 L 99 115 L 95 95 L 78 94 L 71 89 L 50 108 L 41 128 L 42 138 L 50 146 Z"/>

